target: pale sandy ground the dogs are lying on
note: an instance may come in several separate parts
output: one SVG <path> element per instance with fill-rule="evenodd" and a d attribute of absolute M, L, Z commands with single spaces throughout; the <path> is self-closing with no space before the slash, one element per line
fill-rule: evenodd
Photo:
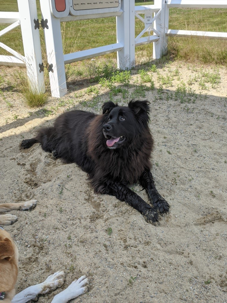
<path fill-rule="evenodd" d="M 87 294 L 72 302 L 227 302 L 227 72 L 219 68 L 221 83 L 215 88 L 190 83 L 193 97 L 181 103 L 174 98 L 177 85 L 199 70 L 171 63 L 159 71 L 166 76 L 176 68 L 173 86 L 164 85 L 159 93 L 154 73 L 155 89 L 145 92 L 155 140 L 152 173 L 170 204 L 156 225 L 114 197 L 95 195 L 76 164 L 53 160 L 38 144 L 19 149 L 22 138 L 33 137 L 40 125 L 50 125 L 73 105 L 100 113 L 109 100 L 107 89 L 96 85 L 99 99 L 92 107 L 94 95 L 85 93 L 89 85 L 79 82 L 61 100 L 50 98 L 43 108 L 31 109 L 7 84 L 2 88 L 0 201 L 38 200 L 32 211 L 13 211 L 18 221 L 5 227 L 20 253 L 17 292 L 64 270 L 62 289 L 81 275 L 89 278 Z M 133 74 L 136 82 L 137 71 Z M 121 93 L 113 98 L 128 101 Z M 44 115 L 51 108 L 53 114 Z M 133 185 L 148 201 L 141 189 Z M 49 302 L 60 290 L 38 302 Z"/>

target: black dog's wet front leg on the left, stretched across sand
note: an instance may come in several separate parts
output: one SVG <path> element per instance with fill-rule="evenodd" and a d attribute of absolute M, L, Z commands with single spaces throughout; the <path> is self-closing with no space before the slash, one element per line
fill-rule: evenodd
<path fill-rule="evenodd" d="M 154 223 L 159 220 L 159 215 L 153 207 L 151 207 L 140 196 L 130 190 L 130 188 L 119 182 L 108 182 L 108 185 L 103 193 L 115 196 L 117 199 L 127 202 L 129 205 L 140 211 L 145 220 L 149 223 Z"/>

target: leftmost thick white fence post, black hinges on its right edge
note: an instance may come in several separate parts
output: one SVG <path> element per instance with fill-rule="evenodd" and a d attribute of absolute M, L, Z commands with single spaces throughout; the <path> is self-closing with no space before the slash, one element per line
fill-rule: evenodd
<path fill-rule="evenodd" d="M 44 75 L 39 72 L 42 63 L 39 30 L 35 30 L 34 19 L 37 19 L 35 0 L 18 0 L 18 9 L 21 23 L 21 33 L 25 52 L 25 64 L 34 93 L 45 92 Z"/>

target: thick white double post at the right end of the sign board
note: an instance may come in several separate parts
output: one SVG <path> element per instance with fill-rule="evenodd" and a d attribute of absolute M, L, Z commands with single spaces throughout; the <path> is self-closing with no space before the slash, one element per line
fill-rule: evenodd
<path fill-rule="evenodd" d="M 116 17 L 117 43 L 123 48 L 117 52 L 117 68 L 130 69 L 135 66 L 135 3 L 121 0 L 123 13 Z"/>

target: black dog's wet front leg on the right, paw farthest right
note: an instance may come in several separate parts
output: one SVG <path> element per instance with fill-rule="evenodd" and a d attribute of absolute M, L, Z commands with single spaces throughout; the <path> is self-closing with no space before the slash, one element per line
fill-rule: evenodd
<path fill-rule="evenodd" d="M 165 212 L 169 211 L 169 204 L 157 191 L 154 185 L 153 176 L 149 169 L 145 169 L 140 176 L 140 184 L 146 188 L 153 207 L 158 210 L 160 214 L 164 214 Z"/>

